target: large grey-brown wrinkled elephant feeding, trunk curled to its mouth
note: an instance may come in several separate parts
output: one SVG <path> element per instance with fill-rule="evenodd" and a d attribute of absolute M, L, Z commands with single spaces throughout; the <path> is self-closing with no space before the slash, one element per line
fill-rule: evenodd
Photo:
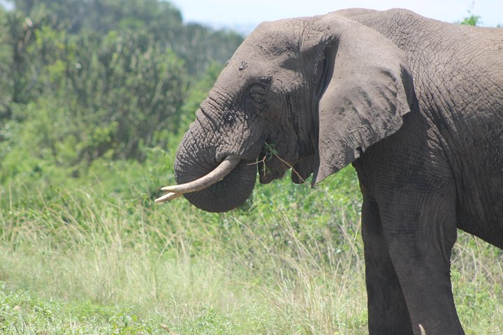
<path fill-rule="evenodd" d="M 229 211 L 257 172 L 269 183 L 291 169 L 315 186 L 349 163 L 369 334 L 464 334 L 450 278 L 458 228 L 503 248 L 503 29 L 404 9 L 264 22 L 201 103 L 178 185 L 156 202 Z"/>

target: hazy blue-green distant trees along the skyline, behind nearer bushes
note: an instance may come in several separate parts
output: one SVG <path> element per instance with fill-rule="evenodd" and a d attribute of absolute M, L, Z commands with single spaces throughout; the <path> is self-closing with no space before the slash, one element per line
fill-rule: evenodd
<path fill-rule="evenodd" d="M 242 43 L 231 31 L 213 31 L 200 24 L 183 24 L 182 14 L 159 0 L 13 0 L 27 17 L 45 15 L 52 27 L 69 34 L 91 30 L 136 31 L 174 50 L 191 75 L 201 75 L 213 61 L 224 63 Z"/>

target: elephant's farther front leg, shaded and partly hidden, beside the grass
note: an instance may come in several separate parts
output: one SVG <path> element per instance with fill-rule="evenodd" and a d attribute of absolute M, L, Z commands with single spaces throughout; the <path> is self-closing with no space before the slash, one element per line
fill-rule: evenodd
<path fill-rule="evenodd" d="M 363 201 L 362 234 L 369 334 L 413 334 L 407 304 L 384 239 L 379 209 L 372 200 Z"/>

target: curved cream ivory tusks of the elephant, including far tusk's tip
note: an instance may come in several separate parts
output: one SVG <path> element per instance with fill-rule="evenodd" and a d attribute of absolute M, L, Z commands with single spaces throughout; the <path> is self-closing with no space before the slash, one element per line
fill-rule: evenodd
<path fill-rule="evenodd" d="M 157 199 L 159 201 L 155 201 L 164 202 L 175 199 L 174 195 L 170 195 L 172 193 L 182 195 L 182 193 L 201 191 L 209 186 L 212 186 L 213 184 L 217 183 L 217 181 L 224 179 L 224 177 L 226 177 L 226 175 L 229 174 L 240 161 L 241 158 L 239 158 L 238 156 L 227 156 L 224 161 L 222 161 L 220 165 L 217 166 L 217 168 L 199 179 L 190 181 L 186 184 L 166 186 L 161 188 L 161 191 L 170 193 L 163 195 L 161 198 Z"/>

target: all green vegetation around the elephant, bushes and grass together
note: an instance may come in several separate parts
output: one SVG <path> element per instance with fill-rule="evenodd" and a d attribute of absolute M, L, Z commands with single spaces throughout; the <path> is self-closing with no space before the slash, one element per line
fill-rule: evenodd
<path fill-rule="evenodd" d="M 155 205 L 243 36 L 168 1 L 0 6 L 0 333 L 366 334 L 351 167 L 228 214 Z M 463 24 L 476 24 L 469 13 Z M 461 236 L 473 334 L 502 334 L 501 251 Z"/>

